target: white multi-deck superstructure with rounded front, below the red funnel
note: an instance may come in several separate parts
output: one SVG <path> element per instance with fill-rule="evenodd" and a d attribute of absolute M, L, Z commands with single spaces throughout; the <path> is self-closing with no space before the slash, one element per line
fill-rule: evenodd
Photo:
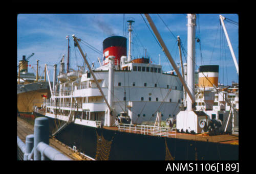
<path fill-rule="evenodd" d="M 130 70 L 114 69 L 113 115 L 127 112 L 131 123 L 153 121 L 158 110 L 162 113 L 162 120 L 175 117 L 183 100 L 182 85 L 178 77 L 163 73 L 161 65 L 126 63 L 121 68 L 126 66 Z M 94 70 L 107 99 L 111 96 L 109 73 L 108 67 Z M 75 114 L 81 116 L 81 120 L 105 122 L 108 106 L 90 72 L 83 72 L 76 80 L 69 78 L 67 82 L 56 86 L 62 88 L 56 88 L 58 91 L 55 91 L 47 105 L 46 116 L 68 120 L 70 114 Z M 84 125 L 84 121 L 78 123 Z"/>

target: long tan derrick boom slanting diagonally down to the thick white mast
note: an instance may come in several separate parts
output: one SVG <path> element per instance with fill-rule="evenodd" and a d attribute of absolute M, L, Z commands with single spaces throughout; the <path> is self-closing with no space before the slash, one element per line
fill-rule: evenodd
<path fill-rule="evenodd" d="M 177 73 L 177 76 L 179 77 L 179 79 L 180 79 L 182 85 L 184 86 L 185 90 L 187 91 L 188 96 L 191 98 L 191 101 L 194 103 L 194 102 L 195 102 L 195 96 L 192 95 L 191 92 L 189 91 L 189 89 L 188 89 L 188 87 L 187 87 L 187 85 L 186 85 L 184 79 L 182 78 L 182 76 L 181 76 L 181 74 L 180 74 L 180 72 L 179 72 L 178 67 L 177 67 L 176 64 L 175 64 L 175 61 L 173 60 L 172 56 L 170 55 L 170 53 L 169 53 L 169 51 L 168 51 L 168 49 L 167 49 L 165 43 L 163 42 L 162 37 L 160 36 L 160 34 L 159 34 L 159 32 L 158 32 L 158 30 L 157 30 L 155 24 L 154 24 L 154 22 L 152 21 L 150 15 L 148 15 L 148 14 L 144 14 L 144 15 L 146 16 L 146 19 L 147 19 L 148 23 L 150 23 L 150 26 L 151 26 L 153 32 L 155 33 L 155 35 L 156 35 L 156 37 L 157 37 L 159 43 L 161 44 L 164 53 L 166 54 L 168 60 L 170 61 L 170 64 L 172 64 L 172 66 L 173 66 L 175 72 Z"/>

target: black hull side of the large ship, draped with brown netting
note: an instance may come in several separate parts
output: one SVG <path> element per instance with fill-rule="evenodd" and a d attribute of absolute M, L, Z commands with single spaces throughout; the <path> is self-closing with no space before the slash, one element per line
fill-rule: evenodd
<path fill-rule="evenodd" d="M 54 119 L 49 118 L 49 122 L 52 131 Z M 101 155 L 102 158 L 97 150 L 97 136 L 111 143 L 109 154 Z M 126 133 L 74 123 L 55 138 L 70 147 L 75 145 L 80 152 L 97 160 L 239 160 L 238 145 Z"/>

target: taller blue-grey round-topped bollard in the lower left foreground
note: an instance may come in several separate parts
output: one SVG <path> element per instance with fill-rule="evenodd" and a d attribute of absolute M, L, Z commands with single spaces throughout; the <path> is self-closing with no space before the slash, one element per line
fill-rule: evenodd
<path fill-rule="evenodd" d="M 34 160 L 41 160 L 41 154 L 36 147 L 39 142 L 49 145 L 49 120 L 46 117 L 38 117 L 34 124 Z"/>

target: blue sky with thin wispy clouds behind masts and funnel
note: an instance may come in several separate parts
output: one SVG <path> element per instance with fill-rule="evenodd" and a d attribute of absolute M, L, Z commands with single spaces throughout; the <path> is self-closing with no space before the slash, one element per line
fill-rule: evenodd
<path fill-rule="evenodd" d="M 162 20 L 175 37 L 169 32 L 158 14 L 150 14 L 155 22 L 160 35 L 162 36 L 170 54 L 176 63 L 180 62 L 177 46 L 177 36 L 179 35 L 185 50 L 187 49 L 187 18 L 186 14 L 159 14 Z M 197 20 L 197 37 L 200 37 L 201 51 L 197 43 L 197 66 L 201 65 L 220 65 L 219 81 L 225 85 L 232 81 L 238 82 L 236 68 L 227 45 L 227 41 L 219 21 L 220 14 L 199 14 Z M 237 14 L 221 14 L 228 19 L 238 21 Z M 144 14 L 142 14 L 146 20 Z M 160 46 L 156 42 L 150 30 L 147 28 L 140 14 L 18 14 L 17 16 L 17 62 L 23 55 L 28 57 L 32 53 L 35 55 L 29 59 L 29 64 L 36 69 L 36 60 L 39 60 L 39 76 L 42 73 L 44 64 L 49 65 L 50 79 L 52 80 L 53 65 L 58 64 L 63 54 L 66 55 L 68 40 L 70 35 L 71 46 L 71 68 L 76 69 L 77 65 L 82 65 L 83 59 L 78 49 L 74 48 L 72 34 L 89 43 L 93 47 L 102 51 L 102 41 L 110 36 L 125 36 L 127 40 L 127 23 L 129 17 L 133 17 L 133 38 L 132 38 L 132 57 L 138 58 L 147 55 L 152 58 L 154 63 L 159 63 L 159 54 L 163 70 L 172 70 Z M 147 22 L 147 21 L 146 21 Z M 239 62 L 238 49 L 238 26 L 224 21 L 225 26 Z M 125 29 L 125 31 L 124 31 Z M 199 30 L 200 29 L 200 30 Z M 128 43 L 127 43 L 128 45 Z M 94 52 L 85 44 L 81 44 L 83 52 L 87 53 L 89 62 L 95 63 L 98 67 L 97 58 L 102 60 L 102 55 Z M 128 46 L 127 46 L 128 48 Z M 201 56 L 202 54 L 202 56 Z M 185 55 L 187 57 L 187 55 Z M 183 55 L 183 62 L 186 62 Z M 18 63 L 17 63 L 18 64 Z M 29 67 L 29 72 L 34 70 Z"/>

